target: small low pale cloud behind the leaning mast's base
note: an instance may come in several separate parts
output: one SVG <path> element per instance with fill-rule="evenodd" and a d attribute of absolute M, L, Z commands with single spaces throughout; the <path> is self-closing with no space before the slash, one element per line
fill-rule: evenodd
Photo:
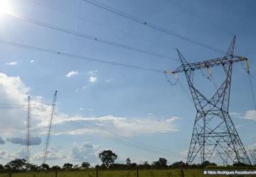
<path fill-rule="evenodd" d="M 44 158 L 44 152 L 39 152 L 32 156 L 33 160 L 41 161 Z M 47 152 L 47 160 L 54 161 L 58 159 L 65 159 L 67 156 L 65 153 L 58 147 L 50 147 Z"/>

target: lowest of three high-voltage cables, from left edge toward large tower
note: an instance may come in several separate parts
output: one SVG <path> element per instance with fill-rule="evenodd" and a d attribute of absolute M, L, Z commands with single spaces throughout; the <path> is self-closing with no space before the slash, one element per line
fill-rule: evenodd
<path fill-rule="evenodd" d="M 67 52 L 58 52 L 58 51 L 49 50 L 49 49 L 46 49 L 46 48 L 43 48 L 43 47 L 23 45 L 23 44 L 19 44 L 19 43 L 16 43 L 16 42 L 9 42 L 9 41 L 5 41 L 5 40 L 0 40 L 0 44 L 10 45 L 10 46 L 14 46 L 14 47 L 20 47 L 20 48 L 27 49 L 27 50 L 34 50 L 34 51 L 39 51 L 39 52 L 50 53 L 52 55 L 59 55 L 59 56 L 63 56 L 63 57 L 83 59 L 83 60 L 87 60 L 87 61 L 90 61 L 90 62 L 100 62 L 100 63 L 105 63 L 105 64 L 112 64 L 114 66 L 119 66 L 119 67 L 129 67 L 129 68 L 133 68 L 133 69 L 142 69 L 142 70 L 146 70 L 146 71 L 150 71 L 150 72 L 164 73 L 164 71 L 160 70 L 160 69 L 151 69 L 151 68 L 147 68 L 147 67 L 139 67 L 139 66 L 135 66 L 135 65 L 124 64 L 124 63 L 120 63 L 120 62 L 111 62 L 111 61 L 107 61 L 107 60 L 103 60 L 103 59 L 85 57 L 85 56 L 80 56 L 80 55 L 73 55 L 73 54 L 70 54 L 70 53 L 67 53 Z"/>

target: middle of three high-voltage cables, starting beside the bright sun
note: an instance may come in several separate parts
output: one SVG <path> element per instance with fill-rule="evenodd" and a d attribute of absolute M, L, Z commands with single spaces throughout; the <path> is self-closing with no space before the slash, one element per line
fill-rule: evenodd
<path fill-rule="evenodd" d="M 172 60 L 175 60 L 175 61 L 177 60 L 176 58 L 171 58 L 171 57 L 167 57 L 167 56 L 164 56 L 164 55 L 157 54 L 155 52 L 149 52 L 149 51 L 146 51 L 146 50 L 142 50 L 142 49 L 139 49 L 137 47 L 132 47 L 132 46 L 129 46 L 129 45 L 124 45 L 124 44 L 121 44 L 121 43 L 118 43 L 118 42 L 114 42 L 112 40 L 105 40 L 105 39 L 102 39 L 102 38 L 97 38 L 97 37 L 95 37 L 93 35 L 88 35 L 88 34 L 80 33 L 80 32 L 75 31 L 75 30 L 69 30 L 69 29 L 62 28 L 62 27 L 57 26 L 57 25 L 50 24 L 50 23 L 44 23 L 44 22 L 41 22 L 41 21 L 37 21 L 37 20 L 34 20 L 32 18 L 26 18 L 26 17 L 16 16 L 16 15 L 6 15 L 6 16 L 9 16 L 11 18 L 16 18 L 16 19 L 21 20 L 21 21 L 26 21 L 28 23 L 33 23 L 35 25 L 40 25 L 40 26 L 43 26 L 45 28 L 50 28 L 52 30 L 58 30 L 58 31 L 60 31 L 62 33 L 68 33 L 70 35 L 76 35 L 78 37 L 86 38 L 88 40 L 94 40 L 95 42 L 101 42 L 101 43 L 104 43 L 104 44 L 107 44 L 107 45 L 114 45 L 116 47 L 121 47 L 121 48 L 124 48 L 126 50 L 142 52 L 144 54 L 152 55 L 154 57 L 161 57 L 161 58 L 165 58 L 165 59 L 172 59 Z"/>

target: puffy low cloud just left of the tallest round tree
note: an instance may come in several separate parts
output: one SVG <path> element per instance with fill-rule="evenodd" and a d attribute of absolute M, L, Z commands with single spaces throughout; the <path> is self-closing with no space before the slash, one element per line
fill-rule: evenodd
<path fill-rule="evenodd" d="M 97 154 L 100 150 L 99 147 L 90 142 L 85 142 L 71 149 L 71 157 L 74 161 L 90 161 L 93 163 L 97 161 Z"/>

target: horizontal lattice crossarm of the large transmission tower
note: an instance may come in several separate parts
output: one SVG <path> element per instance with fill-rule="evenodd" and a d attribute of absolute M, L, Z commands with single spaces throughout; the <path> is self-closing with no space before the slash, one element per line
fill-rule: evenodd
<path fill-rule="evenodd" d="M 209 68 L 209 67 L 218 67 L 223 66 L 225 64 L 233 64 L 235 62 L 246 61 L 246 57 L 238 57 L 238 56 L 225 56 L 215 59 L 208 59 L 203 62 L 193 62 L 193 63 L 183 63 L 180 67 L 171 72 L 172 74 L 180 73 L 180 72 L 191 72 L 197 69 Z M 167 72 L 166 72 L 167 73 Z"/>

